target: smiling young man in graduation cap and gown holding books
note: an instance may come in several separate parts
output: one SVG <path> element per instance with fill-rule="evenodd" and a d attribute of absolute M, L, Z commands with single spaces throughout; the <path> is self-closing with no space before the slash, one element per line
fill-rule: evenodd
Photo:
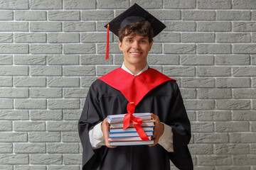
<path fill-rule="evenodd" d="M 190 123 L 178 85 L 146 62 L 153 37 L 164 24 L 134 4 L 109 26 L 119 36 L 124 63 L 97 79 L 88 91 L 78 124 L 82 169 L 162 170 L 170 169 L 170 159 L 178 169 L 193 169 L 187 147 Z M 110 146 L 107 115 L 127 113 L 129 102 L 136 105 L 134 113 L 151 113 L 154 145 Z"/>

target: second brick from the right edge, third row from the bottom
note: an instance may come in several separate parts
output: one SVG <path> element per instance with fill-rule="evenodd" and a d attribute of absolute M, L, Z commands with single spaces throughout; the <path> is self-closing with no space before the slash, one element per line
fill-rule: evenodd
<path fill-rule="evenodd" d="M 249 154 L 249 145 L 218 144 L 215 145 L 215 154 Z"/>

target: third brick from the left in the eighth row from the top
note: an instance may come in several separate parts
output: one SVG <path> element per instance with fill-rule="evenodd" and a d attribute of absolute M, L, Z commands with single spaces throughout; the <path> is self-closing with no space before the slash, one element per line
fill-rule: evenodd
<path fill-rule="evenodd" d="M 79 78 L 68 77 L 49 77 L 49 87 L 78 87 L 80 84 Z"/>

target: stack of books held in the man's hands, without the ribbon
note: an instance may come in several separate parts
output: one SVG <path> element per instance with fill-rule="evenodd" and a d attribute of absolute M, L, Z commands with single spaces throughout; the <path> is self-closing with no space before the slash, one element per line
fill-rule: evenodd
<path fill-rule="evenodd" d="M 141 126 L 147 137 L 149 137 L 149 140 L 142 140 L 132 123 L 129 124 L 127 129 L 123 130 L 124 114 L 109 115 L 107 116 L 107 120 L 110 123 L 110 133 L 108 138 L 110 146 L 154 144 L 154 140 L 152 140 L 154 120 L 151 120 L 150 113 L 134 113 L 133 116 L 142 118 Z"/>

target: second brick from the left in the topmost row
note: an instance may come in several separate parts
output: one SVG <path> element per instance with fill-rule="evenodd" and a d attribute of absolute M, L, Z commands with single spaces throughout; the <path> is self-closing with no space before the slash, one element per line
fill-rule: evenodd
<path fill-rule="evenodd" d="M 30 1 L 31 9 L 61 9 L 62 0 L 31 0 Z"/>

